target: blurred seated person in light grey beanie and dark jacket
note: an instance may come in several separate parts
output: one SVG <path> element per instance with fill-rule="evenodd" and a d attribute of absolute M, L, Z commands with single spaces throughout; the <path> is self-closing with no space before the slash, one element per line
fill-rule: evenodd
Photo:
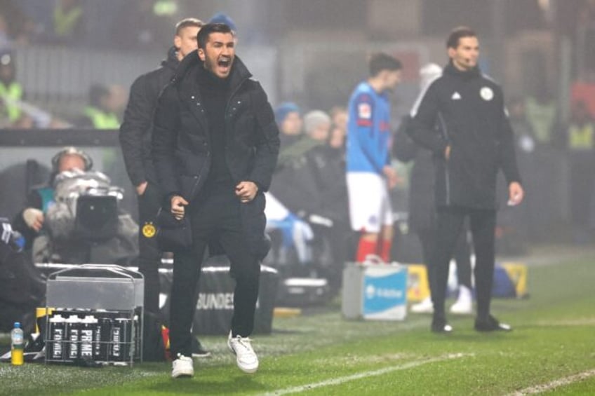
<path fill-rule="evenodd" d="M 281 118 L 282 115 L 278 119 Z M 293 131 L 297 124 L 288 123 Z M 347 222 L 344 142 L 335 139 L 336 148 L 328 144 L 331 124 L 330 116 L 324 111 L 305 114 L 305 133 L 290 135 L 299 137 L 286 146 L 270 191 L 314 231 L 313 264 L 336 292 L 341 283 L 342 264 L 347 260 L 351 228 Z"/>

